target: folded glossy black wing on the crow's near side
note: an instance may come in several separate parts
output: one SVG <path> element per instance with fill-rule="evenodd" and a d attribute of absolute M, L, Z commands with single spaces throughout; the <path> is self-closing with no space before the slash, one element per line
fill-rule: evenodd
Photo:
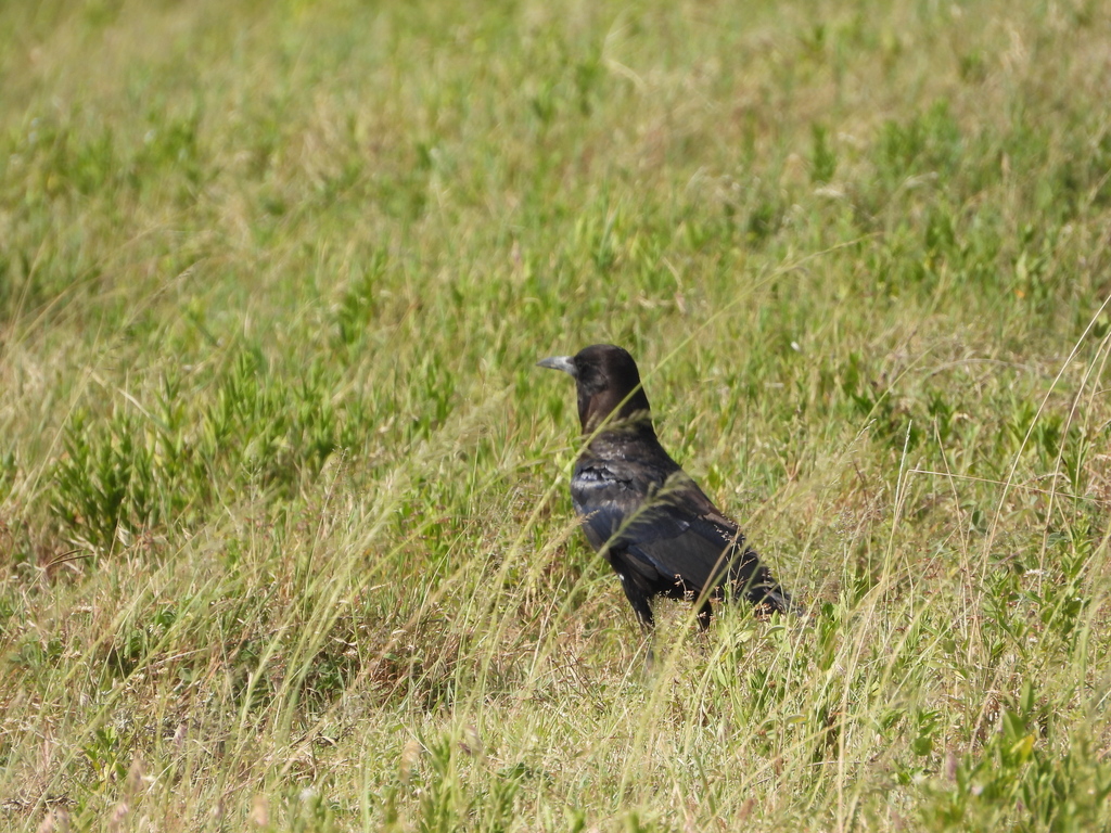
<path fill-rule="evenodd" d="M 682 471 L 664 479 L 635 463 L 595 460 L 577 468 L 571 492 L 594 546 L 624 550 L 647 578 L 695 593 L 720 581 L 743 541 Z"/>

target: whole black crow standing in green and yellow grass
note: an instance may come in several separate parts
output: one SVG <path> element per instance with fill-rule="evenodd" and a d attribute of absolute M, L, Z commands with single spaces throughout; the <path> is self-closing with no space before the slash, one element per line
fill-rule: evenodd
<path fill-rule="evenodd" d="M 588 438 L 571 476 L 574 511 L 645 629 L 653 623 L 655 595 L 701 601 L 702 628 L 711 599 L 727 594 L 772 611 L 792 609 L 791 596 L 745 546 L 737 524 L 655 439 L 637 363 L 625 350 L 594 344 L 538 364 L 574 378 Z"/>

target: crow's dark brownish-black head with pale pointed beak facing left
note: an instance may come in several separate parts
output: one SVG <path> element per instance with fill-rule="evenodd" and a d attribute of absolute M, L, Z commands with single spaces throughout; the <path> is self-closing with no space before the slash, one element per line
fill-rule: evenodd
<path fill-rule="evenodd" d="M 607 419 L 607 429 L 652 430 L 648 397 L 629 351 L 613 344 L 594 344 L 574 355 L 542 359 L 537 365 L 562 370 L 574 378 L 583 433 L 593 432 Z"/>

